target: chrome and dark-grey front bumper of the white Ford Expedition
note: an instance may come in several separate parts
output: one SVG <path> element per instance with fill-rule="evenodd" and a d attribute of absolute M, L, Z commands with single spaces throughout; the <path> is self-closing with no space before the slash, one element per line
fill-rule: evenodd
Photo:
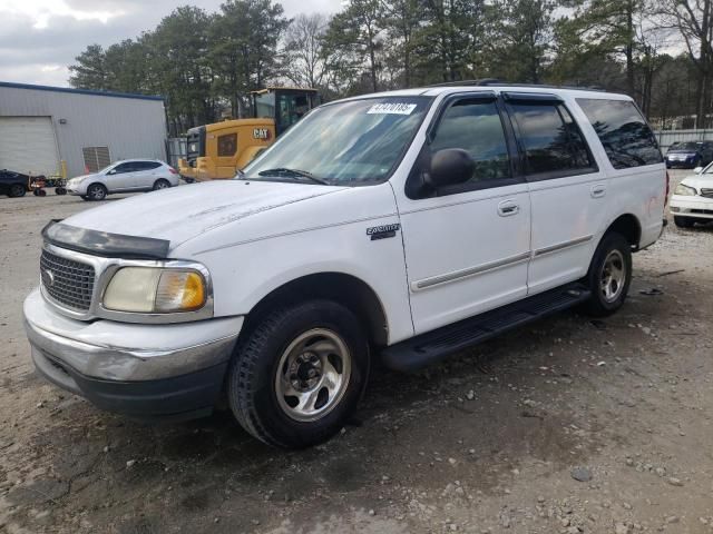
<path fill-rule="evenodd" d="M 242 317 L 175 325 L 85 323 L 35 290 L 25 326 L 37 370 L 99 408 L 139 419 L 185 419 L 213 409 Z"/>

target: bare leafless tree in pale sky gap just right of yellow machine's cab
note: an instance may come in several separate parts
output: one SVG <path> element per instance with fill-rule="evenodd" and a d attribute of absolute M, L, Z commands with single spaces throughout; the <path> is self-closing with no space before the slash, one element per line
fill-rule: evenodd
<path fill-rule="evenodd" d="M 300 87 L 320 87 L 326 76 L 324 36 L 329 19 L 322 13 L 299 14 L 285 32 L 285 71 Z"/>

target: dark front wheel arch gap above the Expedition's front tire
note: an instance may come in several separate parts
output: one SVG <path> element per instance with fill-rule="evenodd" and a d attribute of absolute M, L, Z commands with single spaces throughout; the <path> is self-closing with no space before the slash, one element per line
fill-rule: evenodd
<path fill-rule="evenodd" d="M 389 343 L 389 326 L 381 299 L 373 288 L 353 275 L 344 273 L 315 273 L 295 278 L 265 295 L 246 316 L 243 332 L 250 332 L 262 317 L 280 305 L 303 301 L 306 298 L 328 298 L 351 309 L 377 346 Z"/>

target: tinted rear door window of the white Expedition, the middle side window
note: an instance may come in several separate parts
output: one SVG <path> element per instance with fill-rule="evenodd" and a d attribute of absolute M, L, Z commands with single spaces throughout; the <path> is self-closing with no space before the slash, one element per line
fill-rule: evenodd
<path fill-rule="evenodd" d="M 514 102 L 510 115 L 519 131 L 528 176 L 547 178 L 596 169 L 579 128 L 563 105 Z"/>

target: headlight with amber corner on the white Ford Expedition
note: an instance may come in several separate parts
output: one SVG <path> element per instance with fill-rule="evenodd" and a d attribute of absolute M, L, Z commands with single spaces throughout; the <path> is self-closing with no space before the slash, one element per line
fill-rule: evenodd
<path fill-rule="evenodd" d="M 109 281 L 102 305 L 137 314 L 195 312 L 205 305 L 207 293 L 206 280 L 196 270 L 123 267 Z"/>

